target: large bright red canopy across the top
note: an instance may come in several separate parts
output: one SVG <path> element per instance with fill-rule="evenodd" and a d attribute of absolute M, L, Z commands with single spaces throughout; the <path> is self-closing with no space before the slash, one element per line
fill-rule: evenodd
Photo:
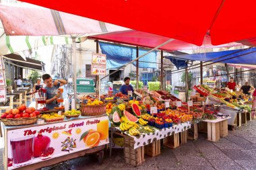
<path fill-rule="evenodd" d="M 22 1 L 197 46 L 203 44 L 206 34 L 214 45 L 247 42 L 256 34 L 254 0 Z"/>

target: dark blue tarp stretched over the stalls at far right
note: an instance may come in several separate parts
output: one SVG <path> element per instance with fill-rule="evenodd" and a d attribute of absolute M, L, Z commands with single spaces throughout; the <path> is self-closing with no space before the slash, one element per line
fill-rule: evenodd
<path fill-rule="evenodd" d="M 238 52 L 240 51 L 240 52 Z M 236 52 L 235 54 L 232 54 L 233 52 Z M 253 52 L 250 54 L 246 54 L 248 52 Z M 228 55 L 230 54 L 230 55 Z M 245 54 L 243 56 L 240 56 L 241 54 Z M 228 56 L 225 56 L 228 55 Z M 214 58 L 218 58 L 220 56 L 224 56 L 218 60 L 212 60 Z M 224 60 L 226 58 L 231 58 L 234 56 L 238 56 L 236 58 Z M 183 58 L 186 60 L 199 60 L 199 61 L 206 61 L 206 60 L 212 60 L 211 62 L 224 62 L 224 63 L 232 63 L 232 64 L 245 64 L 245 65 L 256 65 L 256 48 L 250 48 L 248 50 L 228 50 L 228 51 L 222 51 L 222 52 L 207 52 L 207 53 L 200 53 L 200 54 L 186 54 L 186 55 L 179 55 L 177 56 L 179 58 Z"/>

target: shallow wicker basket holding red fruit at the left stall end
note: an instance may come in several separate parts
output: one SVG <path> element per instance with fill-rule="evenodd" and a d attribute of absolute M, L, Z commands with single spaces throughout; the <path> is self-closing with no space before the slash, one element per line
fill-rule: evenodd
<path fill-rule="evenodd" d="M 21 126 L 28 124 L 35 124 L 38 117 L 33 118 L 16 118 L 16 119 L 0 119 L 5 126 Z"/>

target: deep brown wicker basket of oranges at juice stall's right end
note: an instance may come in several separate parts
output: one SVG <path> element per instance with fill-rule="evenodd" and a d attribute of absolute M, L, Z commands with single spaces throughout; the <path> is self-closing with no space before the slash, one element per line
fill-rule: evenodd
<path fill-rule="evenodd" d="M 103 105 L 84 105 L 80 107 L 82 116 L 100 116 L 106 114 L 106 104 Z"/>

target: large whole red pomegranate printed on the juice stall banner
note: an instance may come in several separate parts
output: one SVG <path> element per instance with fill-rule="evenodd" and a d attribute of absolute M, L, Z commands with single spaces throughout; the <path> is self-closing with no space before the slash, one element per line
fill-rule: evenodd
<path fill-rule="evenodd" d="M 34 157 L 40 157 L 41 152 L 45 151 L 50 143 L 51 139 L 48 136 L 38 133 L 38 135 L 34 137 Z"/>

